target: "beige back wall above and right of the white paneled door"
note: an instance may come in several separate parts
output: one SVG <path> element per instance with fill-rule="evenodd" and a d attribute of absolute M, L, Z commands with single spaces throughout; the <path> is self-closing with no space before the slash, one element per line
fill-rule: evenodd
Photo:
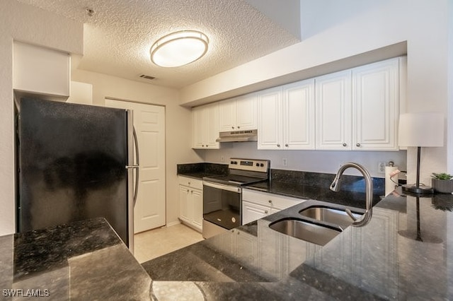
<path fill-rule="evenodd" d="M 178 222 L 176 164 L 200 161 L 190 149 L 191 114 L 179 105 L 178 91 L 82 70 L 74 70 L 72 79 L 93 85 L 93 105 L 105 105 L 105 98 L 119 98 L 166 107 L 166 223 Z"/>

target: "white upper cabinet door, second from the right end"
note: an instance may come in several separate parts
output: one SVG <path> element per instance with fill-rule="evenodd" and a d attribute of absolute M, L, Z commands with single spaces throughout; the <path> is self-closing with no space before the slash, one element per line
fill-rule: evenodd
<path fill-rule="evenodd" d="M 351 149 L 351 71 L 315 78 L 316 148 Z"/>

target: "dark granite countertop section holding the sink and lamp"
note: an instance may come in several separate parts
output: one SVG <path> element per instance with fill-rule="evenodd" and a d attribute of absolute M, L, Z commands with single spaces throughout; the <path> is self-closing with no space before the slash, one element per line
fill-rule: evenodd
<path fill-rule="evenodd" d="M 305 201 L 145 262 L 153 296 L 164 300 L 177 292 L 173 294 L 191 294 L 193 300 L 453 299 L 452 195 L 417 198 L 397 189 L 374 206 L 367 225 L 350 226 L 323 247 L 269 228 L 275 220 L 316 203 Z"/>

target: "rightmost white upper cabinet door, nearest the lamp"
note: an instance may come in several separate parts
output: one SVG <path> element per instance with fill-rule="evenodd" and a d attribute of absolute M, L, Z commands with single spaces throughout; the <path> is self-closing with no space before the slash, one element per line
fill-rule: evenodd
<path fill-rule="evenodd" d="M 352 69 L 352 149 L 397 151 L 398 59 Z"/>

